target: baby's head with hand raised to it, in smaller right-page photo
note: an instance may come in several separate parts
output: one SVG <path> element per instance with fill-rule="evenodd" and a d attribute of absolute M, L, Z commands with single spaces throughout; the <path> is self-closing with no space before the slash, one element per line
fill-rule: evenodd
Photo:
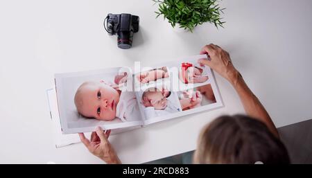
<path fill-rule="evenodd" d="M 165 109 L 167 107 L 167 98 L 171 93 L 160 91 L 157 88 L 150 88 L 144 91 L 142 95 L 142 104 L 145 107 L 154 107 L 155 109 Z"/>

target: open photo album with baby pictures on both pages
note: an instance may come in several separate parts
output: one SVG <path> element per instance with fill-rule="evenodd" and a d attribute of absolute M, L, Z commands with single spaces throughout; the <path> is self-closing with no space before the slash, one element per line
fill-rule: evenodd
<path fill-rule="evenodd" d="M 214 73 L 200 59 L 209 60 L 195 55 L 145 68 L 57 73 L 55 99 L 48 94 L 53 117 L 62 134 L 75 134 L 97 126 L 144 127 L 223 107 Z"/>

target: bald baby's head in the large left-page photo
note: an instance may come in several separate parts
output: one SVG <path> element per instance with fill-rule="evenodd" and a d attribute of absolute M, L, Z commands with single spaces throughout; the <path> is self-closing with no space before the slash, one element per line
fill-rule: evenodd
<path fill-rule="evenodd" d="M 74 102 L 82 116 L 111 121 L 116 117 L 119 92 L 104 82 L 84 82 L 78 87 Z"/>

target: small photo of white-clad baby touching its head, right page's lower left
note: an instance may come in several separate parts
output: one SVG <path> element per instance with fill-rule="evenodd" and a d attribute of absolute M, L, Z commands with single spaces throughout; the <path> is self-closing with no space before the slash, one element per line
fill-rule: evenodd
<path fill-rule="evenodd" d="M 150 87 L 139 94 L 141 109 L 146 119 L 181 112 L 177 94 L 165 87 Z"/>

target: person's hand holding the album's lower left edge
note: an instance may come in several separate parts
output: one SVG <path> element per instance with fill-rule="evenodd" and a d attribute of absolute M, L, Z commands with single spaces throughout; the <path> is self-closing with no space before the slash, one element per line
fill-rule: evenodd
<path fill-rule="evenodd" d="M 89 152 L 106 163 L 121 163 L 114 148 L 112 148 L 112 145 L 107 140 L 109 136 L 110 130 L 104 132 L 101 127 L 97 127 L 96 132 L 92 132 L 90 140 L 85 138 L 85 134 L 79 133 L 80 140 Z"/>

